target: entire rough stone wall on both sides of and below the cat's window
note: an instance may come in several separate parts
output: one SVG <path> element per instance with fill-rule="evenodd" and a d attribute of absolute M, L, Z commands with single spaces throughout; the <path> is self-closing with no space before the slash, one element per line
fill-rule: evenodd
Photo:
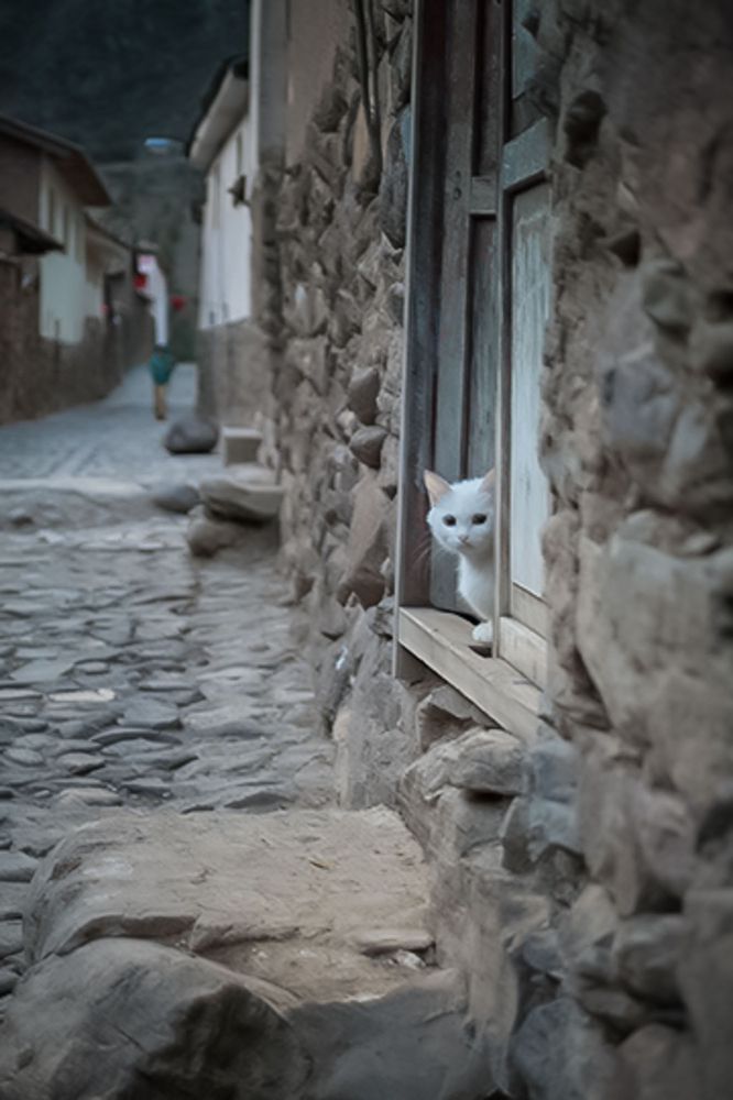
<path fill-rule="evenodd" d="M 551 669 L 526 745 L 427 674 L 391 674 L 412 21 L 397 0 L 374 11 L 383 170 L 351 35 L 255 219 L 267 451 L 340 798 L 396 802 L 422 840 L 439 957 L 469 976 L 507 1096 L 719 1100 L 733 1003 L 731 20 L 723 0 L 694 21 L 681 0 L 556 0 L 527 20 L 557 142 Z"/>

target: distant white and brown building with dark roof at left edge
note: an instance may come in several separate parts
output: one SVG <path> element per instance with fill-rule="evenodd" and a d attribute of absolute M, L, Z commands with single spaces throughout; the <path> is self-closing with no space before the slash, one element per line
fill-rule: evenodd
<path fill-rule="evenodd" d="M 0 420 L 102 396 L 144 358 L 132 252 L 88 215 L 110 204 L 78 145 L 0 116 Z"/>

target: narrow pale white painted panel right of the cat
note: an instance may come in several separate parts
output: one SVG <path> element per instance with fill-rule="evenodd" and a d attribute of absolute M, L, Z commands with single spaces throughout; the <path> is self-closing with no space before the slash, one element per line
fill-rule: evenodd
<path fill-rule="evenodd" d="M 517 195 L 512 211 L 512 449 L 510 562 L 513 584 L 543 594 L 540 532 L 549 494 L 539 468 L 539 382 L 549 310 L 549 187 Z"/>

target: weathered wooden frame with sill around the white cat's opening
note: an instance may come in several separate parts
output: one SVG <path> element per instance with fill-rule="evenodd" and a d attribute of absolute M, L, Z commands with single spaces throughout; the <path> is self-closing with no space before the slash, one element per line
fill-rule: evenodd
<path fill-rule="evenodd" d="M 507 16 L 493 55 L 508 64 Z M 499 346 L 495 400 L 496 469 L 496 615 L 494 636 L 500 656 L 481 653 L 471 639 L 468 619 L 429 605 L 429 581 L 420 571 L 427 502 L 423 471 L 433 461 L 434 407 L 437 387 L 437 308 L 440 293 L 441 196 L 447 182 L 444 102 L 446 6 L 441 0 L 416 0 L 413 55 L 413 138 L 408 198 L 405 348 L 401 426 L 401 469 L 396 542 L 394 671 L 412 680 L 424 666 L 457 688 L 491 718 L 517 735 L 530 738 L 545 686 L 547 669 L 546 607 L 530 592 L 512 585 L 510 575 L 511 495 L 511 287 L 510 207 L 518 191 L 547 178 L 550 134 L 545 120 L 507 140 L 507 77 L 501 88 L 500 150 L 490 175 L 459 179 L 470 189 L 471 216 L 494 218 L 499 231 Z M 436 75 L 440 78 L 436 79 Z M 455 173 L 458 177 L 458 173 Z M 502 293 L 503 289 L 503 293 Z M 490 308 L 486 306 L 486 308 Z M 516 616 L 521 615 L 522 622 Z M 416 663 L 417 662 L 417 663 Z"/>

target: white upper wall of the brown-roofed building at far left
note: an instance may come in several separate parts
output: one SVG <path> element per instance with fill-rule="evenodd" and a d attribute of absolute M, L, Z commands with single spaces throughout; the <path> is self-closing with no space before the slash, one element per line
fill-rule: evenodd
<path fill-rule="evenodd" d="M 41 257 L 40 332 L 50 340 L 78 343 L 84 336 L 88 295 L 84 207 L 45 157 L 39 202 L 41 226 L 64 245 L 63 252 Z"/>

